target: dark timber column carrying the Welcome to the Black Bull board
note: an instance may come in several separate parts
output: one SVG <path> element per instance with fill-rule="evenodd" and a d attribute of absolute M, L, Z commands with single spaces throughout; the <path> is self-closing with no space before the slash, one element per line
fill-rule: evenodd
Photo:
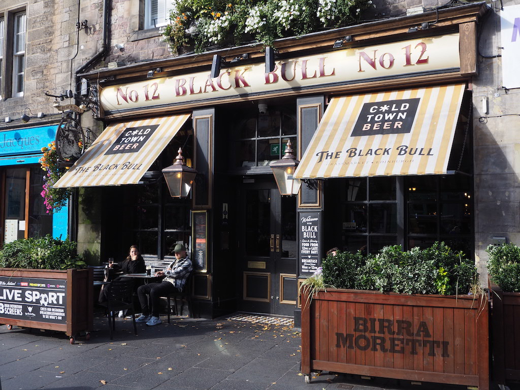
<path fill-rule="evenodd" d="M 323 115 L 325 98 L 324 96 L 300 98 L 296 100 L 296 106 L 298 126 L 296 158 L 301 160 Z M 298 286 L 301 281 L 312 274 L 321 261 L 323 252 L 321 248 L 322 198 L 320 180 L 302 183 L 300 193 L 298 193 L 298 220 L 296 222 L 300 238 L 298 240 Z M 313 237 L 307 237 L 309 235 L 305 233 L 305 230 L 315 231 L 316 237 L 314 237 L 314 234 Z M 298 300 L 298 307 L 294 311 L 294 324 L 296 327 L 301 326 L 300 300 Z"/>

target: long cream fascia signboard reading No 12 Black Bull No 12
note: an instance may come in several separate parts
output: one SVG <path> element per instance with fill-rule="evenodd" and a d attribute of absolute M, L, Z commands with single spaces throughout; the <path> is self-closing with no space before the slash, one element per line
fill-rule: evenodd
<path fill-rule="evenodd" d="M 100 100 L 110 112 L 459 68 L 459 34 L 453 33 L 280 60 L 270 73 L 262 62 L 223 69 L 214 78 L 207 70 L 107 86 Z"/>

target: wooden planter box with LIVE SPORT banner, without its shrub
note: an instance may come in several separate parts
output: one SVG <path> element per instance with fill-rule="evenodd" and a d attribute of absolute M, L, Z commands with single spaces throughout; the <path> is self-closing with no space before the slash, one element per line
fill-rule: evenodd
<path fill-rule="evenodd" d="M 94 323 L 92 269 L 0 268 L 0 323 L 65 332 L 74 337 Z"/>

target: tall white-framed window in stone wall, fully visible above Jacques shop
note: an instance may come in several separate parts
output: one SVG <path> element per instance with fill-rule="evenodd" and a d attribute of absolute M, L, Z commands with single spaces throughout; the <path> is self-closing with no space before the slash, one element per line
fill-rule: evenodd
<path fill-rule="evenodd" d="M 25 75 L 25 11 L 14 15 L 12 42 L 12 96 L 23 96 Z"/>

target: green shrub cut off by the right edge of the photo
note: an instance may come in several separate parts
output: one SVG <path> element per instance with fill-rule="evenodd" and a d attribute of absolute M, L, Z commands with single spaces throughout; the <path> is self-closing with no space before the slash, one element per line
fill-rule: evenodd
<path fill-rule="evenodd" d="M 489 245 L 487 263 L 491 280 L 503 291 L 520 292 L 520 248 L 513 243 Z"/>

